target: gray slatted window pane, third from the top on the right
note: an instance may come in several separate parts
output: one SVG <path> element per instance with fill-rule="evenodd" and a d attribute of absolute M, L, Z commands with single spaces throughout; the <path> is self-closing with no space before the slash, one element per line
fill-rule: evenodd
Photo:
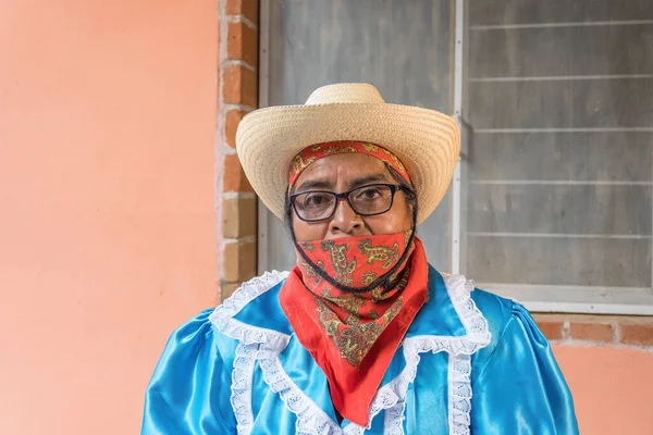
<path fill-rule="evenodd" d="M 653 126 L 653 78 L 471 83 L 469 100 L 475 129 Z"/>

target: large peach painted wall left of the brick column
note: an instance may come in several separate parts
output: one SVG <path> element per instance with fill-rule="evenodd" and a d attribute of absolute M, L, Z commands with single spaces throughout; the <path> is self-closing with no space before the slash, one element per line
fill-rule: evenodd
<path fill-rule="evenodd" d="M 136 434 L 215 302 L 215 0 L 0 0 L 0 434 Z"/>

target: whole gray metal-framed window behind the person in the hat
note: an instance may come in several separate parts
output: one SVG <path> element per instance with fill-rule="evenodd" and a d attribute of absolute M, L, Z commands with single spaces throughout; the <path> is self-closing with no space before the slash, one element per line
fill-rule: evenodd
<path fill-rule="evenodd" d="M 419 228 L 438 269 L 534 311 L 653 313 L 653 2 L 262 4 L 263 103 L 365 80 L 459 115 L 457 176 Z M 261 269 L 292 268 L 264 208 L 259 228 Z"/>

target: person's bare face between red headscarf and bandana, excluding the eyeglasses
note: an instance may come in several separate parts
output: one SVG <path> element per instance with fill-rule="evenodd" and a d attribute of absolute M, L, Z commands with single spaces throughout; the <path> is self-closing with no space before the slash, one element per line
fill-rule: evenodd
<path fill-rule="evenodd" d="M 304 170 L 292 194 L 309 190 L 341 194 L 375 183 L 397 184 L 381 160 L 361 153 L 335 154 L 322 158 Z M 298 241 L 392 234 L 410 229 L 411 223 L 411 213 L 402 190 L 395 194 L 392 208 L 375 216 L 356 214 L 346 200 L 340 200 L 333 216 L 325 221 L 304 222 L 297 217 L 295 210 L 292 211 L 292 225 Z"/>

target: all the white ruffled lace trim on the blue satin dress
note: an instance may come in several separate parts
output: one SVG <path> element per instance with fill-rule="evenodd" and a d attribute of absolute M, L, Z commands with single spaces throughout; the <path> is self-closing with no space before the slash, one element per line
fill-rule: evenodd
<path fill-rule="evenodd" d="M 289 336 L 272 330 L 247 325 L 233 319 L 233 315 L 239 312 L 248 302 L 274 287 L 286 276 L 287 272 L 267 272 L 262 276 L 243 284 L 231 298 L 215 309 L 210 320 L 220 332 L 238 339 L 244 345 L 257 344 L 258 346 L 260 344 L 255 358 L 259 360 L 263 380 L 273 391 L 279 394 L 286 407 L 297 415 L 296 430 L 298 434 L 362 434 L 366 430 L 371 428 L 373 418 L 382 410 L 385 410 L 383 432 L 392 435 L 403 434 L 406 391 L 408 385 L 415 381 L 420 353 L 427 351 L 432 353 L 445 351 L 449 355 L 447 380 L 449 434 L 469 434 L 469 412 L 471 410 L 470 356 L 488 346 L 491 338 L 488 321 L 470 297 L 471 291 L 475 289 L 473 282 L 467 281 L 461 275 L 443 274 L 447 294 L 465 327 L 466 335 L 421 335 L 405 338 L 403 349 L 406 366 L 399 375 L 377 391 L 370 408 L 368 426 L 364 427 L 349 423 L 344 430 L 341 430 L 329 415 L 297 387 L 283 370 L 279 355 L 287 346 Z M 249 366 L 245 368 L 243 362 L 245 360 L 236 358 L 234 370 L 237 365 L 238 370 L 252 371 L 254 364 L 251 364 L 251 369 Z M 249 380 L 249 396 L 247 398 L 246 395 L 238 394 L 235 405 L 232 400 L 234 412 L 236 412 L 236 407 L 242 407 L 242 400 L 248 400 L 248 406 L 251 407 L 251 376 L 241 377 L 241 374 L 238 374 L 237 388 L 239 390 L 239 388 L 247 387 L 243 384 L 247 380 Z M 241 424 L 241 421 L 238 421 L 238 424 Z M 244 427 L 246 426 L 244 425 Z"/>

